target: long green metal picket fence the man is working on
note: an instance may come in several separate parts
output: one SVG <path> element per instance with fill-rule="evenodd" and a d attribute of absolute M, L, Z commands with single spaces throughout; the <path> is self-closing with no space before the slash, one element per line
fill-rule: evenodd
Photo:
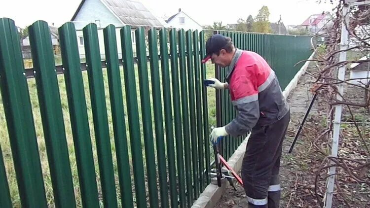
<path fill-rule="evenodd" d="M 0 154 L 1 208 L 183 208 L 191 207 L 210 183 L 209 103 L 218 102 L 212 111 L 217 112 L 219 126 L 236 112 L 226 91 L 209 100 L 202 85 L 207 72 L 214 73 L 210 65 L 207 69 L 200 63 L 205 31 L 152 28 L 146 34 L 139 27 L 134 57 L 130 26 L 120 34 L 113 25 L 105 28 L 104 46 L 99 45 L 97 30 L 95 24 L 83 29 L 86 63 L 81 64 L 74 24 L 60 27 L 62 65 L 55 66 L 48 25 L 35 22 L 29 28 L 34 68 L 25 70 L 17 27 L 11 19 L 0 19 L 5 113 L 0 124 L 6 132 L 0 144 L 10 142 Z M 300 68 L 294 64 L 311 53 L 309 37 L 221 33 L 238 48 L 266 58 L 283 88 Z M 117 37 L 122 59 L 117 55 Z M 100 47 L 105 49 L 103 61 Z M 226 70 L 216 68 L 215 73 L 222 78 Z M 43 137 L 37 134 L 36 111 Z M 225 158 L 243 139 L 224 139 Z M 49 171 L 40 161 L 44 151 L 40 140 Z M 13 179 L 16 187 L 9 186 Z"/>

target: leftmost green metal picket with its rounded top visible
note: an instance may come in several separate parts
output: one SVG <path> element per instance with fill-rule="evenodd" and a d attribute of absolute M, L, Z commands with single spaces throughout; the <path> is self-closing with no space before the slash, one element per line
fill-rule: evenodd
<path fill-rule="evenodd" d="M 0 18 L 0 88 L 23 207 L 46 208 L 32 106 L 14 21 Z M 32 164 L 32 165 L 30 165 Z"/>

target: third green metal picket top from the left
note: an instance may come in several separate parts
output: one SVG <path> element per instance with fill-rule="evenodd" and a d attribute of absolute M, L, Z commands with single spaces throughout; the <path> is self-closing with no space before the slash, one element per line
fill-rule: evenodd
<path fill-rule="evenodd" d="M 97 208 L 99 207 L 98 188 L 74 24 L 65 23 L 58 32 L 82 206 Z"/>

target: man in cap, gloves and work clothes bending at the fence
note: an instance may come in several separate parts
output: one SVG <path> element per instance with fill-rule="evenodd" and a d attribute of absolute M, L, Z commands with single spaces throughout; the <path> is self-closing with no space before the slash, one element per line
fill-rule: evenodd
<path fill-rule="evenodd" d="M 243 158 L 242 178 L 249 208 L 277 208 L 280 202 L 279 168 L 282 143 L 290 121 L 289 106 L 278 79 L 267 62 L 252 51 L 234 47 L 231 39 L 213 35 L 206 42 L 206 56 L 228 66 L 226 82 L 210 78 L 216 89 L 228 89 L 237 116 L 213 129 L 211 140 L 252 131 Z"/>

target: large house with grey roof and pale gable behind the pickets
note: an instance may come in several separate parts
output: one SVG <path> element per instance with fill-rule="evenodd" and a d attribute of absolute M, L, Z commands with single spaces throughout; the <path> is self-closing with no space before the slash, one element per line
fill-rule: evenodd
<path fill-rule="evenodd" d="M 139 26 L 162 28 L 163 24 L 139 0 L 82 0 L 71 19 L 76 28 L 80 57 L 84 58 L 82 29 L 89 23 L 98 27 L 99 46 L 102 59 L 105 59 L 103 29 L 112 24 L 116 27 L 118 53 L 121 52 L 119 30 L 130 25 L 135 54 L 135 29 Z M 119 54 L 121 57 L 121 54 Z"/>

